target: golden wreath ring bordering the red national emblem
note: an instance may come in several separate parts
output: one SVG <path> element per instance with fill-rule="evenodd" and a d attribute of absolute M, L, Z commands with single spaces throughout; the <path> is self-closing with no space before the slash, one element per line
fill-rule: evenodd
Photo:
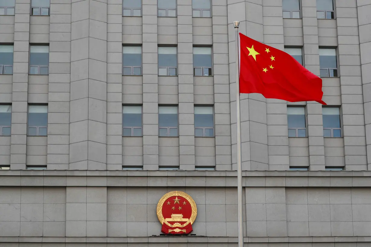
<path fill-rule="evenodd" d="M 165 221 L 164 216 L 162 215 L 162 206 L 164 205 L 165 201 L 172 196 L 181 196 L 181 197 L 187 199 L 187 201 L 191 204 L 191 208 L 192 208 L 191 217 L 189 218 L 189 220 L 186 223 L 182 224 L 181 227 L 185 227 L 189 223 L 193 224 L 193 222 L 194 222 L 194 220 L 196 219 L 196 216 L 197 216 L 196 202 L 187 193 L 185 193 L 183 191 L 177 191 L 177 190 L 176 191 L 170 191 L 170 192 L 164 194 L 164 196 L 161 197 L 160 201 L 158 201 L 158 204 L 157 204 L 157 218 L 158 218 L 158 220 L 161 222 L 161 224 L 165 223 L 167 226 L 174 227 L 170 223 L 167 223 Z"/>

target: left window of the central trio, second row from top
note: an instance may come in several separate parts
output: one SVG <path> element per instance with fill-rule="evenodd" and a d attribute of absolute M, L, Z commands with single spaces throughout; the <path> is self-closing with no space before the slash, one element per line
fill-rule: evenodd
<path fill-rule="evenodd" d="M 124 76 L 142 75 L 142 47 L 123 46 L 122 47 L 122 74 Z"/>

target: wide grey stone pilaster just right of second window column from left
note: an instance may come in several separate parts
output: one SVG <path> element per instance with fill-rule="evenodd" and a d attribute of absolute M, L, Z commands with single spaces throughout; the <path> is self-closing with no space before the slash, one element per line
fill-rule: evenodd
<path fill-rule="evenodd" d="M 50 3 L 47 169 L 69 168 L 71 1 Z"/>

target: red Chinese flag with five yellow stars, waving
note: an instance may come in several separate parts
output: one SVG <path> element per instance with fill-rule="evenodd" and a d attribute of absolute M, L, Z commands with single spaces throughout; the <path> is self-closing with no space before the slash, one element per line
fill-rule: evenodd
<path fill-rule="evenodd" d="M 289 54 L 240 33 L 240 93 L 269 99 L 322 101 L 322 79 Z"/>

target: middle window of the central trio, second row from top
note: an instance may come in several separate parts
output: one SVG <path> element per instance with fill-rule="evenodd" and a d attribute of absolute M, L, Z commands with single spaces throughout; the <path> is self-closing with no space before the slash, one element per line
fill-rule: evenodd
<path fill-rule="evenodd" d="M 177 47 L 158 47 L 158 75 L 177 75 Z"/>

